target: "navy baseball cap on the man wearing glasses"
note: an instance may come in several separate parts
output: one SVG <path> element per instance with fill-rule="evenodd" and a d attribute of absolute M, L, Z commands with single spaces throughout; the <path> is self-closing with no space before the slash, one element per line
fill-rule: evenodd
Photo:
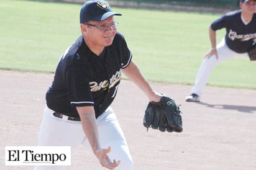
<path fill-rule="evenodd" d="M 90 0 L 86 1 L 81 7 L 80 24 L 88 22 L 89 20 L 101 21 L 111 16 L 122 16 L 118 12 L 112 11 L 109 3 L 104 0 Z"/>

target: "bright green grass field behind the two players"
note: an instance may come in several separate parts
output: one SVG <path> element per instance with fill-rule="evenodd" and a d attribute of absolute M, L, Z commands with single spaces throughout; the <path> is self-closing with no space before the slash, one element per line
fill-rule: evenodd
<path fill-rule="evenodd" d="M 53 73 L 80 36 L 80 4 L 2 0 L 0 69 Z M 193 84 L 210 48 L 209 24 L 221 15 L 112 7 L 119 32 L 150 81 Z M 224 30 L 217 32 L 218 41 Z M 209 85 L 256 89 L 256 65 L 234 58 L 217 66 Z"/>

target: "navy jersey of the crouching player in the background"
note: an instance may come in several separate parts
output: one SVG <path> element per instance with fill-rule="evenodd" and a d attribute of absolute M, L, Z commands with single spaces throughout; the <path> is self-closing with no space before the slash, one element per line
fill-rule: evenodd
<path fill-rule="evenodd" d="M 241 10 L 232 11 L 215 20 L 211 24 L 213 30 L 226 28 L 225 40 L 227 46 L 237 52 L 246 53 L 256 43 L 256 13 L 245 25 L 241 19 Z"/>

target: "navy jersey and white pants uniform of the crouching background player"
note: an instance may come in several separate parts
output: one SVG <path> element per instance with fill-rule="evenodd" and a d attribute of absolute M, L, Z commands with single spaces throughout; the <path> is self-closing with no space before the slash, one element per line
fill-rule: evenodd
<path fill-rule="evenodd" d="M 216 56 L 211 56 L 204 58 L 201 63 L 195 84 L 191 89 L 192 94 L 198 96 L 203 94 L 212 69 L 222 61 L 234 57 L 249 60 L 248 51 L 256 44 L 256 13 L 248 23 L 242 19 L 241 13 L 241 10 L 229 12 L 211 24 L 211 29 L 214 31 L 226 28 L 226 35 L 216 47 L 218 59 Z M 196 101 L 190 96 L 186 99 L 187 101 Z"/>

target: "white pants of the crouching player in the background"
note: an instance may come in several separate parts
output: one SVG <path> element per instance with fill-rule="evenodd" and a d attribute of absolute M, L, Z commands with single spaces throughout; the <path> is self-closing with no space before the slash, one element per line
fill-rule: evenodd
<path fill-rule="evenodd" d="M 237 53 L 229 49 L 229 47 L 227 47 L 226 45 L 224 38 L 217 45 L 217 54 L 218 54 L 218 59 L 216 59 L 215 55 L 211 56 L 210 58 L 204 58 L 198 70 L 196 81 L 193 88 L 191 89 L 191 93 L 195 93 L 201 96 L 201 94 L 203 93 L 203 89 L 206 86 L 206 83 L 209 79 L 212 69 L 215 66 L 219 65 L 219 63 L 221 63 L 222 61 L 225 61 L 225 60 L 228 60 L 229 58 L 234 58 L 234 57 L 250 59 L 248 53 Z"/>

